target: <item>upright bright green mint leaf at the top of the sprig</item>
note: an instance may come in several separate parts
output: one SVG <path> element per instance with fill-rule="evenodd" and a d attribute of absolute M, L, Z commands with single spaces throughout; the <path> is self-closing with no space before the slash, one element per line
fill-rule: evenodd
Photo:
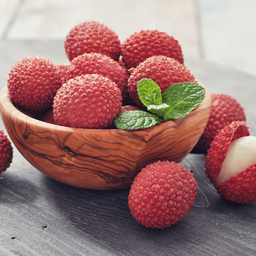
<path fill-rule="evenodd" d="M 141 79 L 137 84 L 137 91 L 141 102 L 146 107 L 162 104 L 161 89 L 152 79 Z"/>

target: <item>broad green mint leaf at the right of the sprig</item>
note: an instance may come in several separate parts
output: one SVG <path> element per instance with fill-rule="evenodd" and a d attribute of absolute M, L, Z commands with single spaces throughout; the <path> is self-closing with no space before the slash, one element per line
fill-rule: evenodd
<path fill-rule="evenodd" d="M 204 99 L 205 89 L 197 83 L 185 82 L 173 84 L 162 94 L 163 103 L 169 105 L 164 121 L 185 117 Z"/>

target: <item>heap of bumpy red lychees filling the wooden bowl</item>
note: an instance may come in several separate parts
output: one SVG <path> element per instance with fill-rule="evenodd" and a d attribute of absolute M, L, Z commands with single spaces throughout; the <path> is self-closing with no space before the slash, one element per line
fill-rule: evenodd
<path fill-rule="evenodd" d="M 177 40 L 165 32 L 142 30 L 121 44 L 112 29 L 86 21 L 70 30 L 64 48 L 68 63 L 29 56 L 12 67 L 8 90 L 20 111 L 55 125 L 115 128 L 123 111 L 144 107 L 137 93 L 141 79 L 152 79 L 162 92 L 197 82 Z"/>

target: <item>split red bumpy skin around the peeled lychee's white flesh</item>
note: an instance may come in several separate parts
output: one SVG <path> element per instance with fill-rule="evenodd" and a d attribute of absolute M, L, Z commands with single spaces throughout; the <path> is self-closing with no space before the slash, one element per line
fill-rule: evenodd
<path fill-rule="evenodd" d="M 230 143 L 240 137 L 249 135 L 249 127 L 244 121 L 232 122 L 225 126 L 214 138 L 205 159 L 205 172 L 218 193 L 224 198 L 239 204 L 251 204 L 256 201 L 256 163 L 218 185 L 217 179 Z"/>

